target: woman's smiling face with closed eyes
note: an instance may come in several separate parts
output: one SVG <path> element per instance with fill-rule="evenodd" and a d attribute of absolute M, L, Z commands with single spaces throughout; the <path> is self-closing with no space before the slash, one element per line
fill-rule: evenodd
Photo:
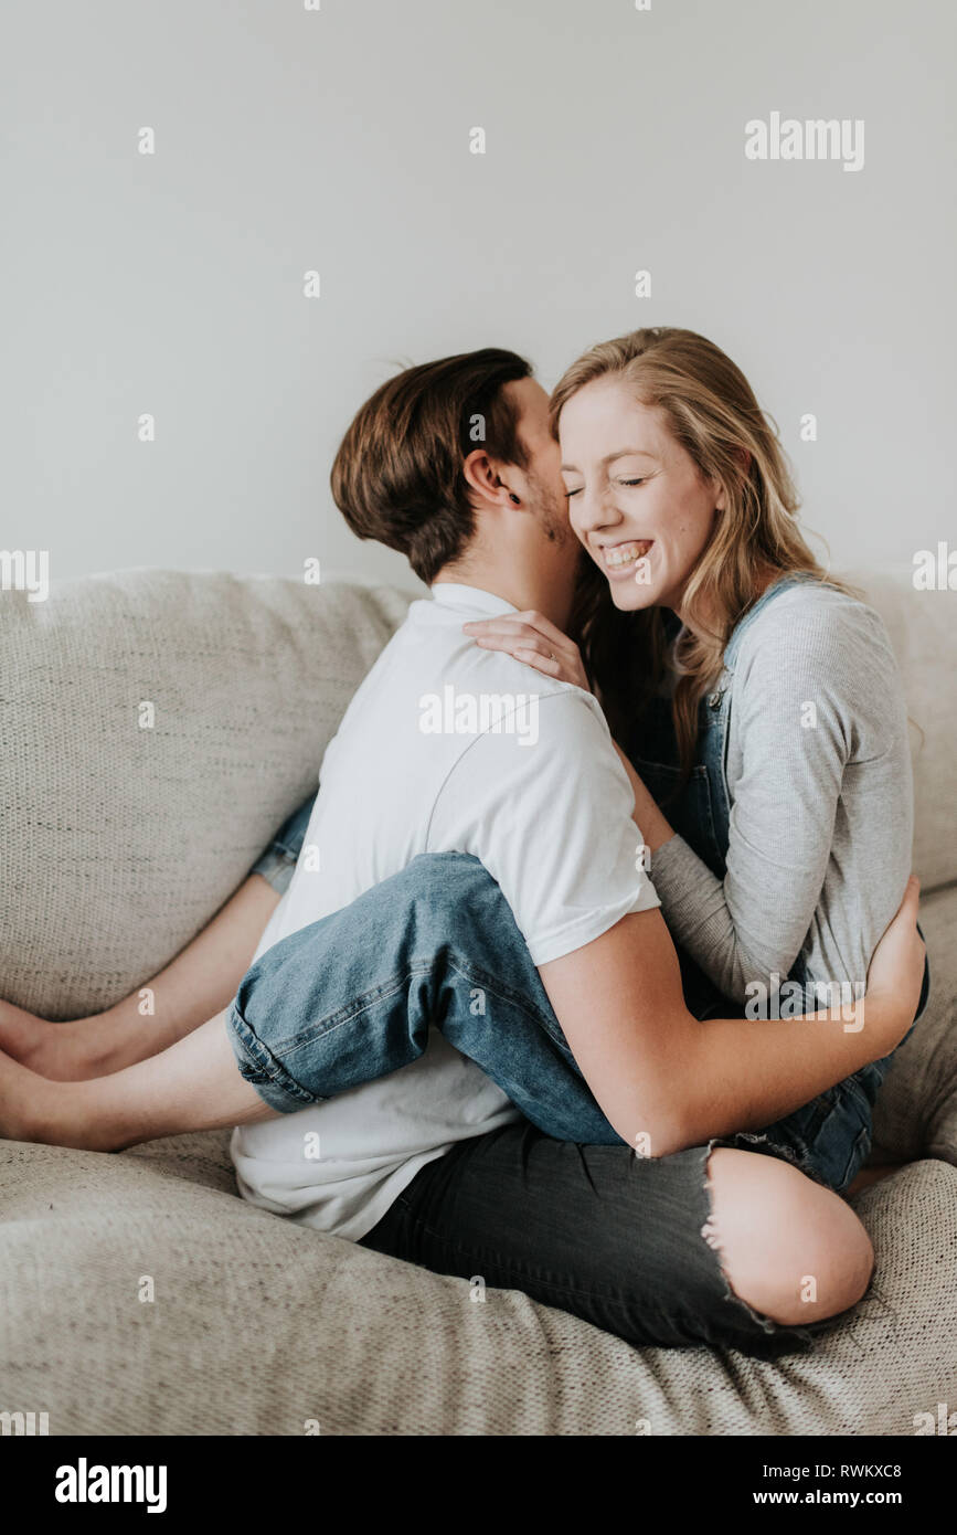
<path fill-rule="evenodd" d="M 702 479 L 655 407 L 600 378 L 558 421 L 572 527 L 604 573 L 617 608 L 679 611 L 724 493 Z"/>

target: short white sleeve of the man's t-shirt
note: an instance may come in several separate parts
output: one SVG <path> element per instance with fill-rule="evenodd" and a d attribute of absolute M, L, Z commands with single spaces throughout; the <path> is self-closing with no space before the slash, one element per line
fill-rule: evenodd
<path fill-rule="evenodd" d="M 505 731 L 469 741 L 436 798 L 428 847 L 485 864 L 541 966 L 659 904 L 633 803 L 598 705 L 549 694 L 525 743 Z"/>

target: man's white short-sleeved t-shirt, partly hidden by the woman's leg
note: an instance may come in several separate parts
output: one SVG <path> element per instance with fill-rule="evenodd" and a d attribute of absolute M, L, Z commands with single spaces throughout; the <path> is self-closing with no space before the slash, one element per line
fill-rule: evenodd
<path fill-rule="evenodd" d="M 537 966 L 659 904 L 595 698 L 462 632 L 469 619 L 515 611 L 445 582 L 411 605 L 330 741 L 296 872 L 256 958 L 426 852 L 482 860 Z M 253 1203 L 357 1240 L 426 1162 L 520 1117 L 431 1030 L 419 1061 L 244 1125 L 232 1151 Z"/>

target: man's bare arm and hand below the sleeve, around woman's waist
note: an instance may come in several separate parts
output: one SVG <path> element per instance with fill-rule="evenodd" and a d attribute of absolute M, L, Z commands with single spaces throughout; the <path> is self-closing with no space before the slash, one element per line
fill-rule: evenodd
<path fill-rule="evenodd" d="M 865 1002 L 839 1019 L 814 1013 L 778 1022 L 699 1022 L 684 1007 L 659 910 L 621 918 L 601 938 L 543 964 L 540 975 L 609 1122 L 646 1154 L 667 1156 L 712 1136 L 761 1130 L 888 1055 L 920 996 L 923 944 L 916 923 L 911 880 L 874 952 Z"/>

